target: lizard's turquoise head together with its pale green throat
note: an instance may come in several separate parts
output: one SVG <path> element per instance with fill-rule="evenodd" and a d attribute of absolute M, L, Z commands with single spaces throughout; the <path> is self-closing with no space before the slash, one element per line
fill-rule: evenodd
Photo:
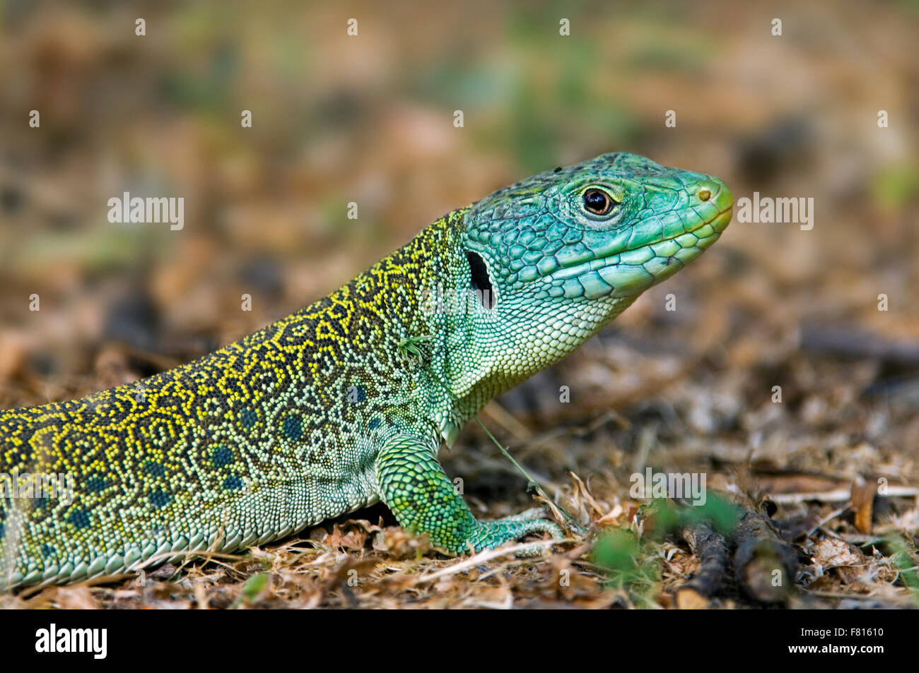
<path fill-rule="evenodd" d="M 456 282 L 486 298 L 451 326 L 466 379 L 457 392 L 496 394 L 571 353 L 717 241 L 732 206 L 719 178 L 629 153 L 536 174 L 473 204 Z"/>

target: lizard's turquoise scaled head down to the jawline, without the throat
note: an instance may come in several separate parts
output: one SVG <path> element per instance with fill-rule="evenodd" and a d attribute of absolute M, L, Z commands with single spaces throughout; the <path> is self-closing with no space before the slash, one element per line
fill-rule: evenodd
<path fill-rule="evenodd" d="M 473 285 L 494 308 L 634 299 L 717 241 L 732 206 L 719 178 L 624 152 L 533 175 L 467 213 Z"/>

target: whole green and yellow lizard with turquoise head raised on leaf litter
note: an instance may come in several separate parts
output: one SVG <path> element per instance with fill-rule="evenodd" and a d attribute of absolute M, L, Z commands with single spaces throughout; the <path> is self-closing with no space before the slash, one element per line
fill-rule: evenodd
<path fill-rule="evenodd" d="M 440 448 L 696 259 L 732 206 L 714 175 L 607 153 L 449 212 L 198 360 L 0 411 L 0 588 L 231 553 L 380 500 L 447 555 L 560 539 L 539 509 L 477 520 Z M 70 488 L 48 497 L 48 475 Z"/>

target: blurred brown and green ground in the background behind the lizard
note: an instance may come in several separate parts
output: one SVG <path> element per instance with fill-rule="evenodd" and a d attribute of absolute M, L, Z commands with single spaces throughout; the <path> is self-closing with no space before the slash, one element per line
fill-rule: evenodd
<path fill-rule="evenodd" d="M 0 2 L 0 407 L 186 362 L 450 209 L 634 151 L 738 198 L 812 197 L 813 229 L 735 217 L 487 409 L 495 432 L 547 483 L 576 469 L 617 488 L 645 463 L 914 479 L 917 28 L 905 1 Z M 184 197 L 184 229 L 108 222 L 126 191 Z M 476 459 L 505 492 L 497 458 Z"/>

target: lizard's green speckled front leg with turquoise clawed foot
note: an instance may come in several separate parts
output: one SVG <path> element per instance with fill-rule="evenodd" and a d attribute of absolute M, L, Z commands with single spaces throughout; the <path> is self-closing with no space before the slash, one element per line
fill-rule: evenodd
<path fill-rule="evenodd" d="M 496 521 L 477 521 L 444 474 L 436 452 L 437 446 L 430 441 L 399 434 L 377 456 L 380 497 L 407 531 L 427 533 L 431 544 L 449 555 L 490 549 L 528 533 L 550 533 L 562 539 L 559 526 L 543 519 L 539 509 Z M 533 548 L 522 554 L 538 551 Z"/>

